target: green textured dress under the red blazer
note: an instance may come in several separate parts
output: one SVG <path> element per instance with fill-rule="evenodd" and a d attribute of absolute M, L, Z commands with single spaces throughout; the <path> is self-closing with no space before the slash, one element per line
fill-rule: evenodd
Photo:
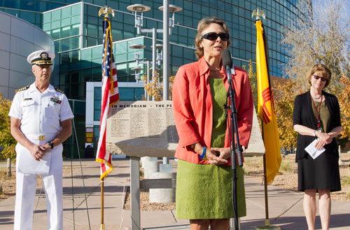
<path fill-rule="evenodd" d="M 213 131 L 211 147 L 223 147 L 227 121 L 223 104 L 226 90 L 223 79 L 209 79 L 213 95 Z M 244 177 L 237 167 L 237 203 L 239 217 L 246 216 Z M 233 218 L 231 166 L 196 164 L 178 161 L 176 177 L 176 218 Z"/>

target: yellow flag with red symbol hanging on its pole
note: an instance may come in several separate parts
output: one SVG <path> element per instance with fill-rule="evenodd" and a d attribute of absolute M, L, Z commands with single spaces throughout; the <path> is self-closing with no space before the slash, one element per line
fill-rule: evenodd
<path fill-rule="evenodd" d="M 258 114 L 262 120 L 262 136 L 265 144 L 267 184 L 274 180 L 281 165 L 281 149 L 279 147 L 279 131 L 277 130 L 274 99 L 269 86 L 268 55 L 265 52 L 264 29 L 257 20 L 256 26 L 256 72 L 258 81 Z M 267 47 L 267 46 L 266 46 Z M 267 48 L 266 48 L 267 50 Z"/>

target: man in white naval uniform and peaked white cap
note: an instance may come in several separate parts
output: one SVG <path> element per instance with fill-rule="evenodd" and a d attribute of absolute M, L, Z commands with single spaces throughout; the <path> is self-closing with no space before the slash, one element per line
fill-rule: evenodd
<path fill-rule="evenodd" d="M 15 94 L 8 116 L 16 145 L 15 230 L 31 230 L 36 180 L 41 175 L 48 229 L 63 229 L 62 142 L 71 135 L 73 113 L 64 93 L 50 85 L 55 53 L 38 50 L 27 57 L 35 82 Z"/>

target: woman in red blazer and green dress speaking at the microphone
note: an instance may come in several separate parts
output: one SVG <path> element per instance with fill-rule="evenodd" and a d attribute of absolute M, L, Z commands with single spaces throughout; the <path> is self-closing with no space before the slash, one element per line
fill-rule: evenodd
<path fill-rule="evenodd" d="M 190 229 L 225 229 L 234 217 L 229 128 L 223 104 L 228 76 L 223 50 L 230 46 L 227 25 L 220 18 L 198 23 L 195 46 L 198 61 L 176 74 L 173 108 L 179 146 L 176 177 L 176 218 L 190 219 Z M 232 74 L 240 144 L 248 147 L 253 121 L 251 84 L 243 69 Z M 246 215 L 243 170 L 237 167 L 239 217 Z"/>

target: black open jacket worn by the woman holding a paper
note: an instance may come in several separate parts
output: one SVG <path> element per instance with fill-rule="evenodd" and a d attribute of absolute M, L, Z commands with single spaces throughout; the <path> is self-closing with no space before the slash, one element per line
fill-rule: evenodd
<path fill-rule="evenodd" d="M 340 121 L 340 109 L 337 97 L 330 93 L 325 93 L 322 91 L 323 96 L 325 96 L 325 104 L 328 107 L 330 113 L 330 119 L 328 120 L 328 126 L 326 133 L 329 133 L 335 127 L 342 126 Z M 293 111 L 293 126 L 301 125 L 307 126 L 314 130 L 317 129 L 317 119 L 314 116 L 314 112 L 312 111 L 312 102 L 310 91 L 306 93 L 302 93 L 295 97 L 294 102 L 294 111 Z M 297 135 L 297 155 L 295 161 L 307 157 L 307 151 L 305 151 L 305 147 L 307 147 L 311 142 L 315 140 L 315 137 L 309 135 Z M 335 138 L 333 138 L 330 144 L 326 144 L 324 146 L 325 152 L 329 152 L 330 154 L 336 154 L 339 157 L 338 146 Z"/>

